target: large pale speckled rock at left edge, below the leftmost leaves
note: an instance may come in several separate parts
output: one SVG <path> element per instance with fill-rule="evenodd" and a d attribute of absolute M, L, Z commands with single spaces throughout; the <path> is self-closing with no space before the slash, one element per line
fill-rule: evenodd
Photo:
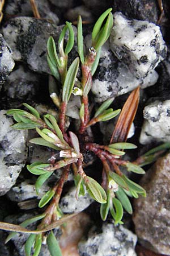
<path fill-rule="evenodd" d="M 27 131 L 18 131 L 10 127 L 12 118 L 6 117 L 6 111 L 0 112 L 0 195 L 5 195 L 15 184 L 20 171 L 27 160 Z"/>

